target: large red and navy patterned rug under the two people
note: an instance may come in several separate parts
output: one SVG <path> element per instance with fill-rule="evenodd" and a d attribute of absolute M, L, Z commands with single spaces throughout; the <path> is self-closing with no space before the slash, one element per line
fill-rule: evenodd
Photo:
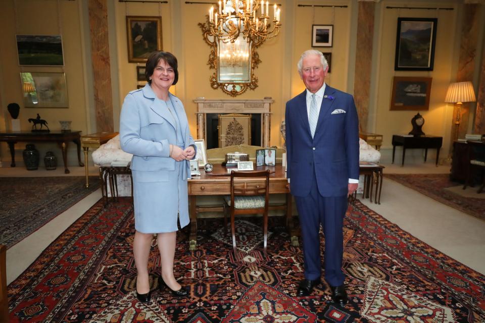
<path fill-rule="evenodd" d="M 485 321 L 483 275 L 359 201 L 344 229 L 349 303 L 333 304 L 325 283 L 310 297 L 296 297 L 303 278 L 302 250 L 290 244 L 284 219 L 269 220 L 267 257 L 261 218 L 237 221 L 241 250 L 236 258 L 222 219 L 199 220 L 196 251 L 188 251 L 188 230 L 180 231 L 175 276 L 188 287 L 186 298 L 158 290 L 160 258 L 154 245 L 153 295 L 144 305 L 134 294 L 131 201 L 121 198 L 108 207 L 100 201 L 10 284 L 11 322 Z"/>

